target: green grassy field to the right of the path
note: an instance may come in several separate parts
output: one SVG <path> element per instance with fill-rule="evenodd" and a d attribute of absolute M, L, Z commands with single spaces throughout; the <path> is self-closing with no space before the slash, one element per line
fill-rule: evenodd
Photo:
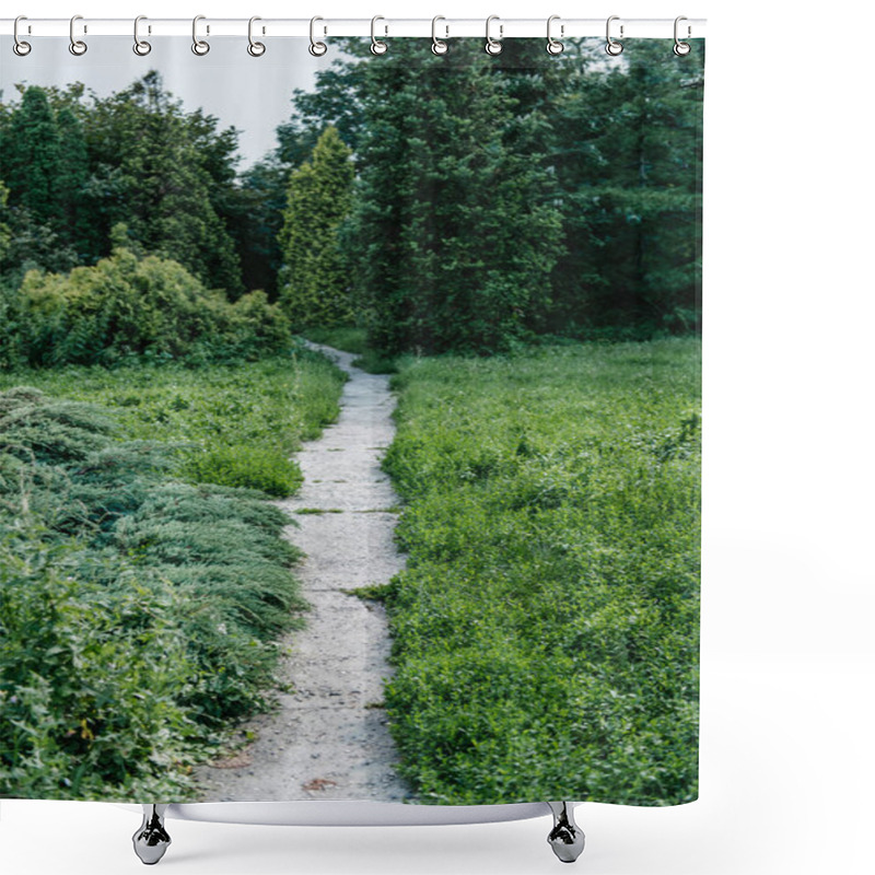
<path fill-rule="evenodd" d="M 407 360 L 388 716 L 423 802 L 697 795 L 700 346 Z"/>

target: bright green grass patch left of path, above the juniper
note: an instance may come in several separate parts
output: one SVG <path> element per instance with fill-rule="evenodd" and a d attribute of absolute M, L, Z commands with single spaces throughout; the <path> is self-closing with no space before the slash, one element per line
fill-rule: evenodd
<path fill-rule="evenodd" d="M 68 366 L 0 373 L 0 390 L 30 385 L 110 408 L 126 439 L 179 445 L 189 482 L 258 489 L 282 498 L 301 485 L 290 458 L 339 412 L 343 374 L 322 355 L 189 369 Z"/>

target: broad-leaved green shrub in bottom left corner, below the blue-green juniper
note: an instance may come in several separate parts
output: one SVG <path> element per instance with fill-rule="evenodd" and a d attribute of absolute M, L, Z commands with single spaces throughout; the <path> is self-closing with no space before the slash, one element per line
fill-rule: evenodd
<path fill-rule="evenodd" d="M 179 691 L 195 672 L 183 609 L 129 562 L 0 520 L 0 797 L 183 792 L 194 724 Z"/>

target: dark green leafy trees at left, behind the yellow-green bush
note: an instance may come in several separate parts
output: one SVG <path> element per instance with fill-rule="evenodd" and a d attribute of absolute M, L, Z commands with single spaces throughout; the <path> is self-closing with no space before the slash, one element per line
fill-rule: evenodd
<path fill-rule="evenodd" d="M 243 292 L 230 231 L 241 201 L 233 128 L 220 131 L 214 117 L 184 112 L 155 71 L 105 97 L 79 83 L 19 90 L 21 101 L 0 106 L 0 177 L 14 226 L 25 236 L 43 229 L 73 254 L 59 265 L 46 250 L 36 266 L 92 265 L 109 254 L 112 229 L 125 222 L 143 250 L 178 261 L 232 299 Z M 16 262 L 8 258 L 4 267 L 14 273 Z"/>

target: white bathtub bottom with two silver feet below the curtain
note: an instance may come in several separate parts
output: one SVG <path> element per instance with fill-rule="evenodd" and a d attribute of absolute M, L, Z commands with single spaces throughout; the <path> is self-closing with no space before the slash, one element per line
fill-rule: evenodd
<path fill-rule="evenodd" d="M 125 806 L 128 807 L 128 806 Z M 166 819 L 268 826 L 438 826 L 489 824 L 541 817 L 549 810 L 553 828 L 547 842 L 563 863 L 583 852 L 583 830 L 574 822 L 573 802 L 512 805 L 398 805 L 358 802 L 217 802 L 168 805 L 143 804 L 143 821 L 133 833 L 133 850 L 148 866 L 171 845 Z"/>

